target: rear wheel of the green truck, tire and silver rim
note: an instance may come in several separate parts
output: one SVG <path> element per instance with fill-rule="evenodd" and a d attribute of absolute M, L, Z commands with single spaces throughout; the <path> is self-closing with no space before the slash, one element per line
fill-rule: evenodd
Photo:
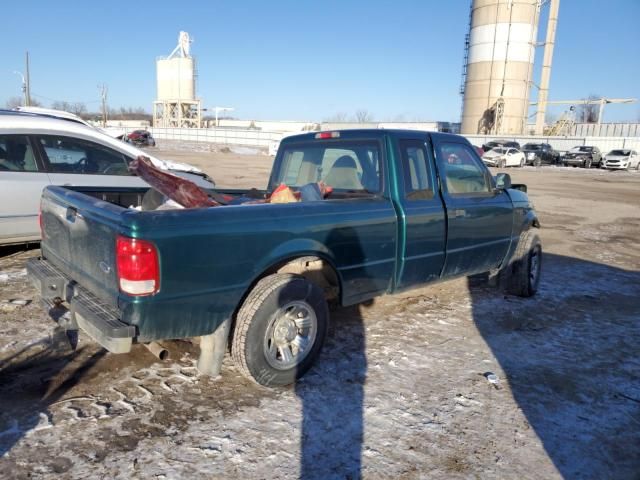
<path fill-rule="evenodd" d="M 238 311 L 231 355 L 250 380 L 268 387 L 289 385 L 313 365 L 328 326 L 320 287 L 291 274 L 270 275 Z"/>

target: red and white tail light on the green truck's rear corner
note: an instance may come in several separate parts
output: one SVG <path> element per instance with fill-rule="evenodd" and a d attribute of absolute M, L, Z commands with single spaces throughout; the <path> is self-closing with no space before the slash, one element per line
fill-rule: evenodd
<path fill-rule="evenodd" d="M 153 243 L 118 236 L 116 266 L 121 292 L 142 296 L 152 295 L 160 289 L 158 251 Z"/>

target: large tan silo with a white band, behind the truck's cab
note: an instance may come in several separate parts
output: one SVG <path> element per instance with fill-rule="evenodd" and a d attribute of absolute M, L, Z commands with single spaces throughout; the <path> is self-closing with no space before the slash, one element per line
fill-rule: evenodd
<path fill-rule="evenodd" d="M 461 132 L 522 134 L 541 2 L 473 0 Z"/>

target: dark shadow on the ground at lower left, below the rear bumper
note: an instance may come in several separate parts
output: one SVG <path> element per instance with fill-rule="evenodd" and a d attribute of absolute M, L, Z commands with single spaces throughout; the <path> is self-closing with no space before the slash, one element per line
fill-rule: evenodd
<path fill-rule="evenodd" d="M 64 330 L 0 361 L 0 458 L 30 432 L 49 428 L 49 407 L 77 385 L 107 352 L 72 350 Z"/>

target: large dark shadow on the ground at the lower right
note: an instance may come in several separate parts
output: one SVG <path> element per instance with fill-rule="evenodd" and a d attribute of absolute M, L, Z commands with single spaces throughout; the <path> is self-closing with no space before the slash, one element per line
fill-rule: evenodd
<path fill-rule="evenodd" d="M 493 372 L 499 388 L 558 472 L 637 478 L 640 272 L 546 254 L 534 298 L 469 286 L 473 320 L 502 370 Z"/>

